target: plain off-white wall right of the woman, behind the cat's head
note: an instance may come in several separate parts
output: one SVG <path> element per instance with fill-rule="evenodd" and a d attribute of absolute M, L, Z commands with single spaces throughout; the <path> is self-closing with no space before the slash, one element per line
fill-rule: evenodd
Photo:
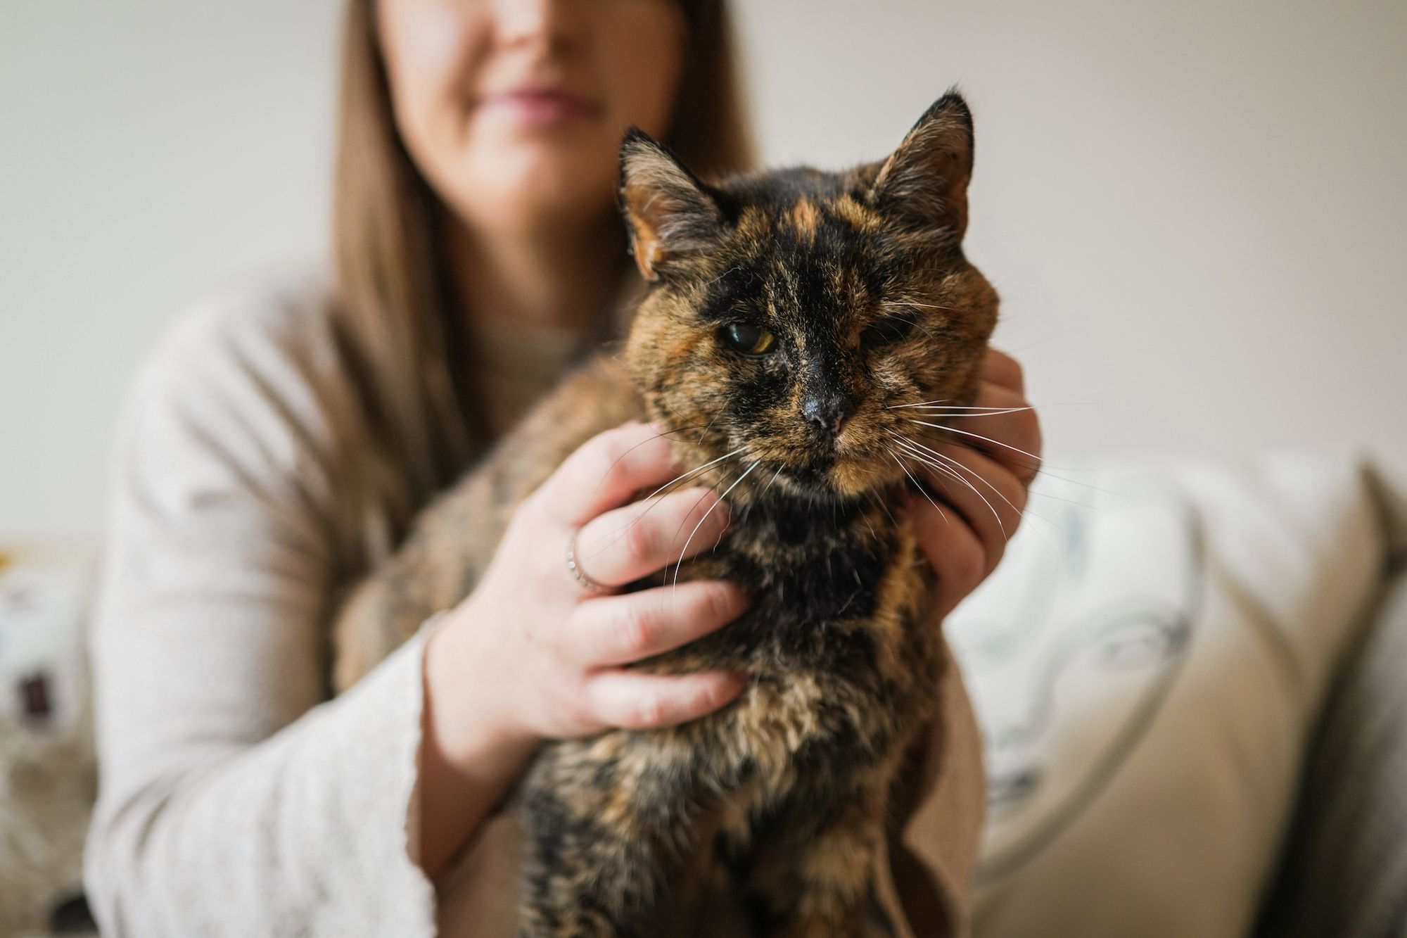
<path fill-rule="evenodd" d="M 768 154 L 874 156 L 948 83 L 969 255 L 1059 449 L 1407 451 L 1407 4 L 746 6 Z M 785 38 L 784 38 L 785 37 Z"/>

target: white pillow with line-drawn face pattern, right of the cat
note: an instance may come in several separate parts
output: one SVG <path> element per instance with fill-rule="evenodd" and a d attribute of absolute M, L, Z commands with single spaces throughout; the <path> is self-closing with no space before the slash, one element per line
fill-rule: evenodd
<path fill-rule="evenodd" d="M 1307 456 L 1064 475 L 948 623 L 986 739 L 975 932 L 1240 938 L 1382 576 L 1375 503 Z"/>

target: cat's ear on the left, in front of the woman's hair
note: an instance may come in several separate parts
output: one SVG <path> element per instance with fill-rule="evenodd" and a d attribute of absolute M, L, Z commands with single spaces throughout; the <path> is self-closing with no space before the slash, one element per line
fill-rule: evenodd
<path fill-rule="evenodd" d="M 620 144 L 620 213 L 640 276 L 723 241 L 723 215 L 704 183 L 657 139 L 632 127 Z"/>

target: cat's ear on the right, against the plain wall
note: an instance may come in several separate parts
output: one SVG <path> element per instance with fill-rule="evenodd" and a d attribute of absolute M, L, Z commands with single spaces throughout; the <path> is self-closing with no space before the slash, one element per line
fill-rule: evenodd
<path fill-rule="evenodd" d="M 875 177 L 877 206 L 885 214 L 953 244 L 967 231 L 967 189 L 972 179 L 972 111 L 950 90 L 924 111 Z"/>

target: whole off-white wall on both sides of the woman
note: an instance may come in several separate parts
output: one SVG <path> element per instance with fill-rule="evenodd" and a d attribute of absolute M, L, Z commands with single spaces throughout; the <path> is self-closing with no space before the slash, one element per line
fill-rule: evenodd
<path fill-rule="evenodd" d="M 1052 449 L 1407 459 L 1407 6 L 734 6 L 771 162 L 875 158 L 961 83 Z M 0 4 L 0 535 L 97 530 L 142 349 L 319 251 L 338 7 Z"/>

